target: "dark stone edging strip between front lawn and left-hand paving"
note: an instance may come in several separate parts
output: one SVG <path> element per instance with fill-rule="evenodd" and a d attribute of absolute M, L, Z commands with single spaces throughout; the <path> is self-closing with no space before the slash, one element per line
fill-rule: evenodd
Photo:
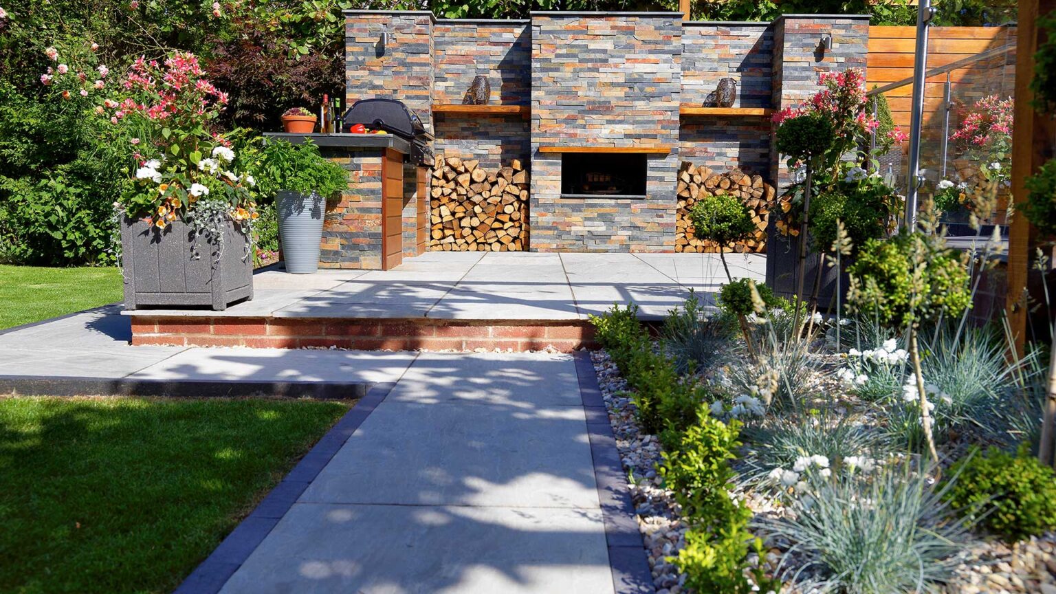
<path fill-rule="evenodd" d="M 131 377 L 54 377 L 0 375 L 0 395 L 246 397 L 284 396 L 318 400 L 364 398 L 373 390 L 364 382 L 243 382 L 222 379 L 136 379 Z"/>

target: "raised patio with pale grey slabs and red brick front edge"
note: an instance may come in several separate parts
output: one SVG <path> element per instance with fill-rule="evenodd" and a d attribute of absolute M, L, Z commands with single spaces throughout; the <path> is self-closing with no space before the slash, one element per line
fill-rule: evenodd
<path fill-rule="evenodd" d="M 765 255 L 727 259 L 734 276 L 763 281 Z M 717 254 L 433 252 L 390 271 L 261 272 L 254 299 L 222 312 L 125 314 L 140 346 L 568 352 L 614 303 L 659 320 L 691 290 L 712 304 L 723 282 Z"/>

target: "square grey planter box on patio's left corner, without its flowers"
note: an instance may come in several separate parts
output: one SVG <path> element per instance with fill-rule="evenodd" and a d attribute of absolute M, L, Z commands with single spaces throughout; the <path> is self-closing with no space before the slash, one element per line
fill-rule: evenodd
<path fill-rule="evenodd" d="M 192 247 L 197 247 L 194 258 Z M 163 230 L 146 221 L 124 218 L 121 252 L 125 308 L 227 305 L 253 298 L 253 259 L 246 254 L 249 238 L 228 221 L 224 247 L 205 238 L 192 239 L 190 227 L 176 220 Z"/>

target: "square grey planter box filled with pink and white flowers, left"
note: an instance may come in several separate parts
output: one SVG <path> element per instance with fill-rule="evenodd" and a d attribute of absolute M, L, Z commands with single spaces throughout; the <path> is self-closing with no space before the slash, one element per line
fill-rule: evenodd
<path fill-rule="evenodd" d="M 214 131 L 227 95 L 197 58 L 137 59 L 117 96 L 95 111 L 135 131 L 121 217 L 125 305 L 210 305 L 252 298 L 253 179 L 244 155 Z"/>

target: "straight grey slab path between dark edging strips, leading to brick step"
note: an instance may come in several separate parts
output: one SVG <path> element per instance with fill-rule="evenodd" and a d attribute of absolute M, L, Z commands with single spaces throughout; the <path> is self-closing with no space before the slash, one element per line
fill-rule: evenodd
<path fill-rule="evenodd" d="M 611 594 L 593 464 L 572 357 L 421 354 L 222 592 Z"/>

